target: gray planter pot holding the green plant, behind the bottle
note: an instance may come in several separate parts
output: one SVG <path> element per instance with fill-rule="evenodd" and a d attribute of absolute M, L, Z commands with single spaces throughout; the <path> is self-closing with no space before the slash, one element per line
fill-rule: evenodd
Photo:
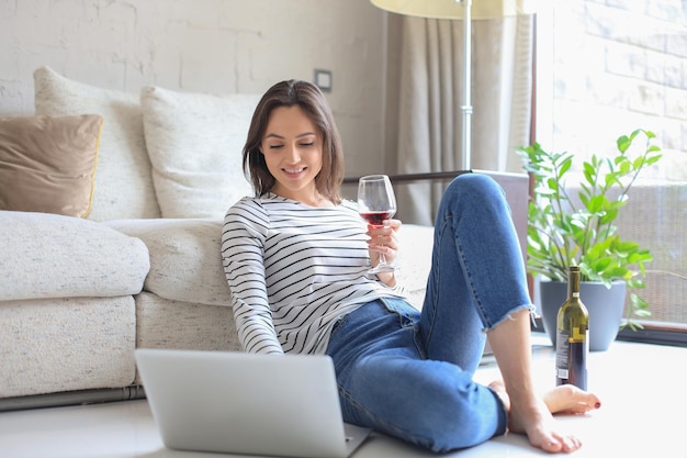
<path fill-rule="evenodd" d="M 605 351 L 616 339 L 622 321 L 624 297 L 624 281 L 613 281 L 610 289 L 595 281 L 579 283 L 579 299 L 589 312 L 590 351 Z M 567 282 L 539 282 L 539 299 L 544 331 L 555 348 L 556 320 L 561 304 L 567 299 Z"/>

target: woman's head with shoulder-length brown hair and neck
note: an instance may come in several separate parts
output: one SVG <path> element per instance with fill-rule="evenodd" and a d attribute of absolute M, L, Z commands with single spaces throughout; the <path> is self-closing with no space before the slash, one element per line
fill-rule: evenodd
<path fill-rule="evenodd" d="M 277 193 L 303 197 L 313 206 L 341 202 L 341 138 L 317 87 L 291 80 L 268 90 L 248 131 L 244 169 L 258 196 L 283 189 Z"/>

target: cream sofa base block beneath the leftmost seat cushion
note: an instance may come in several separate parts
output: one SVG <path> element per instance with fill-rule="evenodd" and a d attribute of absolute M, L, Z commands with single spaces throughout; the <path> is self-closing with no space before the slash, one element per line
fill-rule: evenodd
<path fill-rule="evenodd" d="M 134 382 L 131 295 L 0 301 L 0 398 Z"/>

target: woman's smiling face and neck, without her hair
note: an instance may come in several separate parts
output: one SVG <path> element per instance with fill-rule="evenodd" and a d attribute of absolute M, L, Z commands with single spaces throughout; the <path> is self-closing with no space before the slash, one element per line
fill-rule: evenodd
<path fill-rule="evenodd" d="M 260 150 L 277 180 L 273 193 L 317 205 L 315 177 L 322 170 L 323 139 L 301 107 L 272 110 Z"/>

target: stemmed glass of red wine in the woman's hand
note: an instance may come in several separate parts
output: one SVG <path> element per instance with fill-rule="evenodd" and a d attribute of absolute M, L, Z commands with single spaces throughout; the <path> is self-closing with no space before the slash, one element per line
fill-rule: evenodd
<path fill-rule="evenodd" d="M 382 227 L 382 222 L 396 214 L 396 197 L 386 175 L 369 175 L 358 181 L 358 212 L 368 224 Z M 383 253 L 370 273 L 391 272 L 395 267 L 386 264 Z"/>

